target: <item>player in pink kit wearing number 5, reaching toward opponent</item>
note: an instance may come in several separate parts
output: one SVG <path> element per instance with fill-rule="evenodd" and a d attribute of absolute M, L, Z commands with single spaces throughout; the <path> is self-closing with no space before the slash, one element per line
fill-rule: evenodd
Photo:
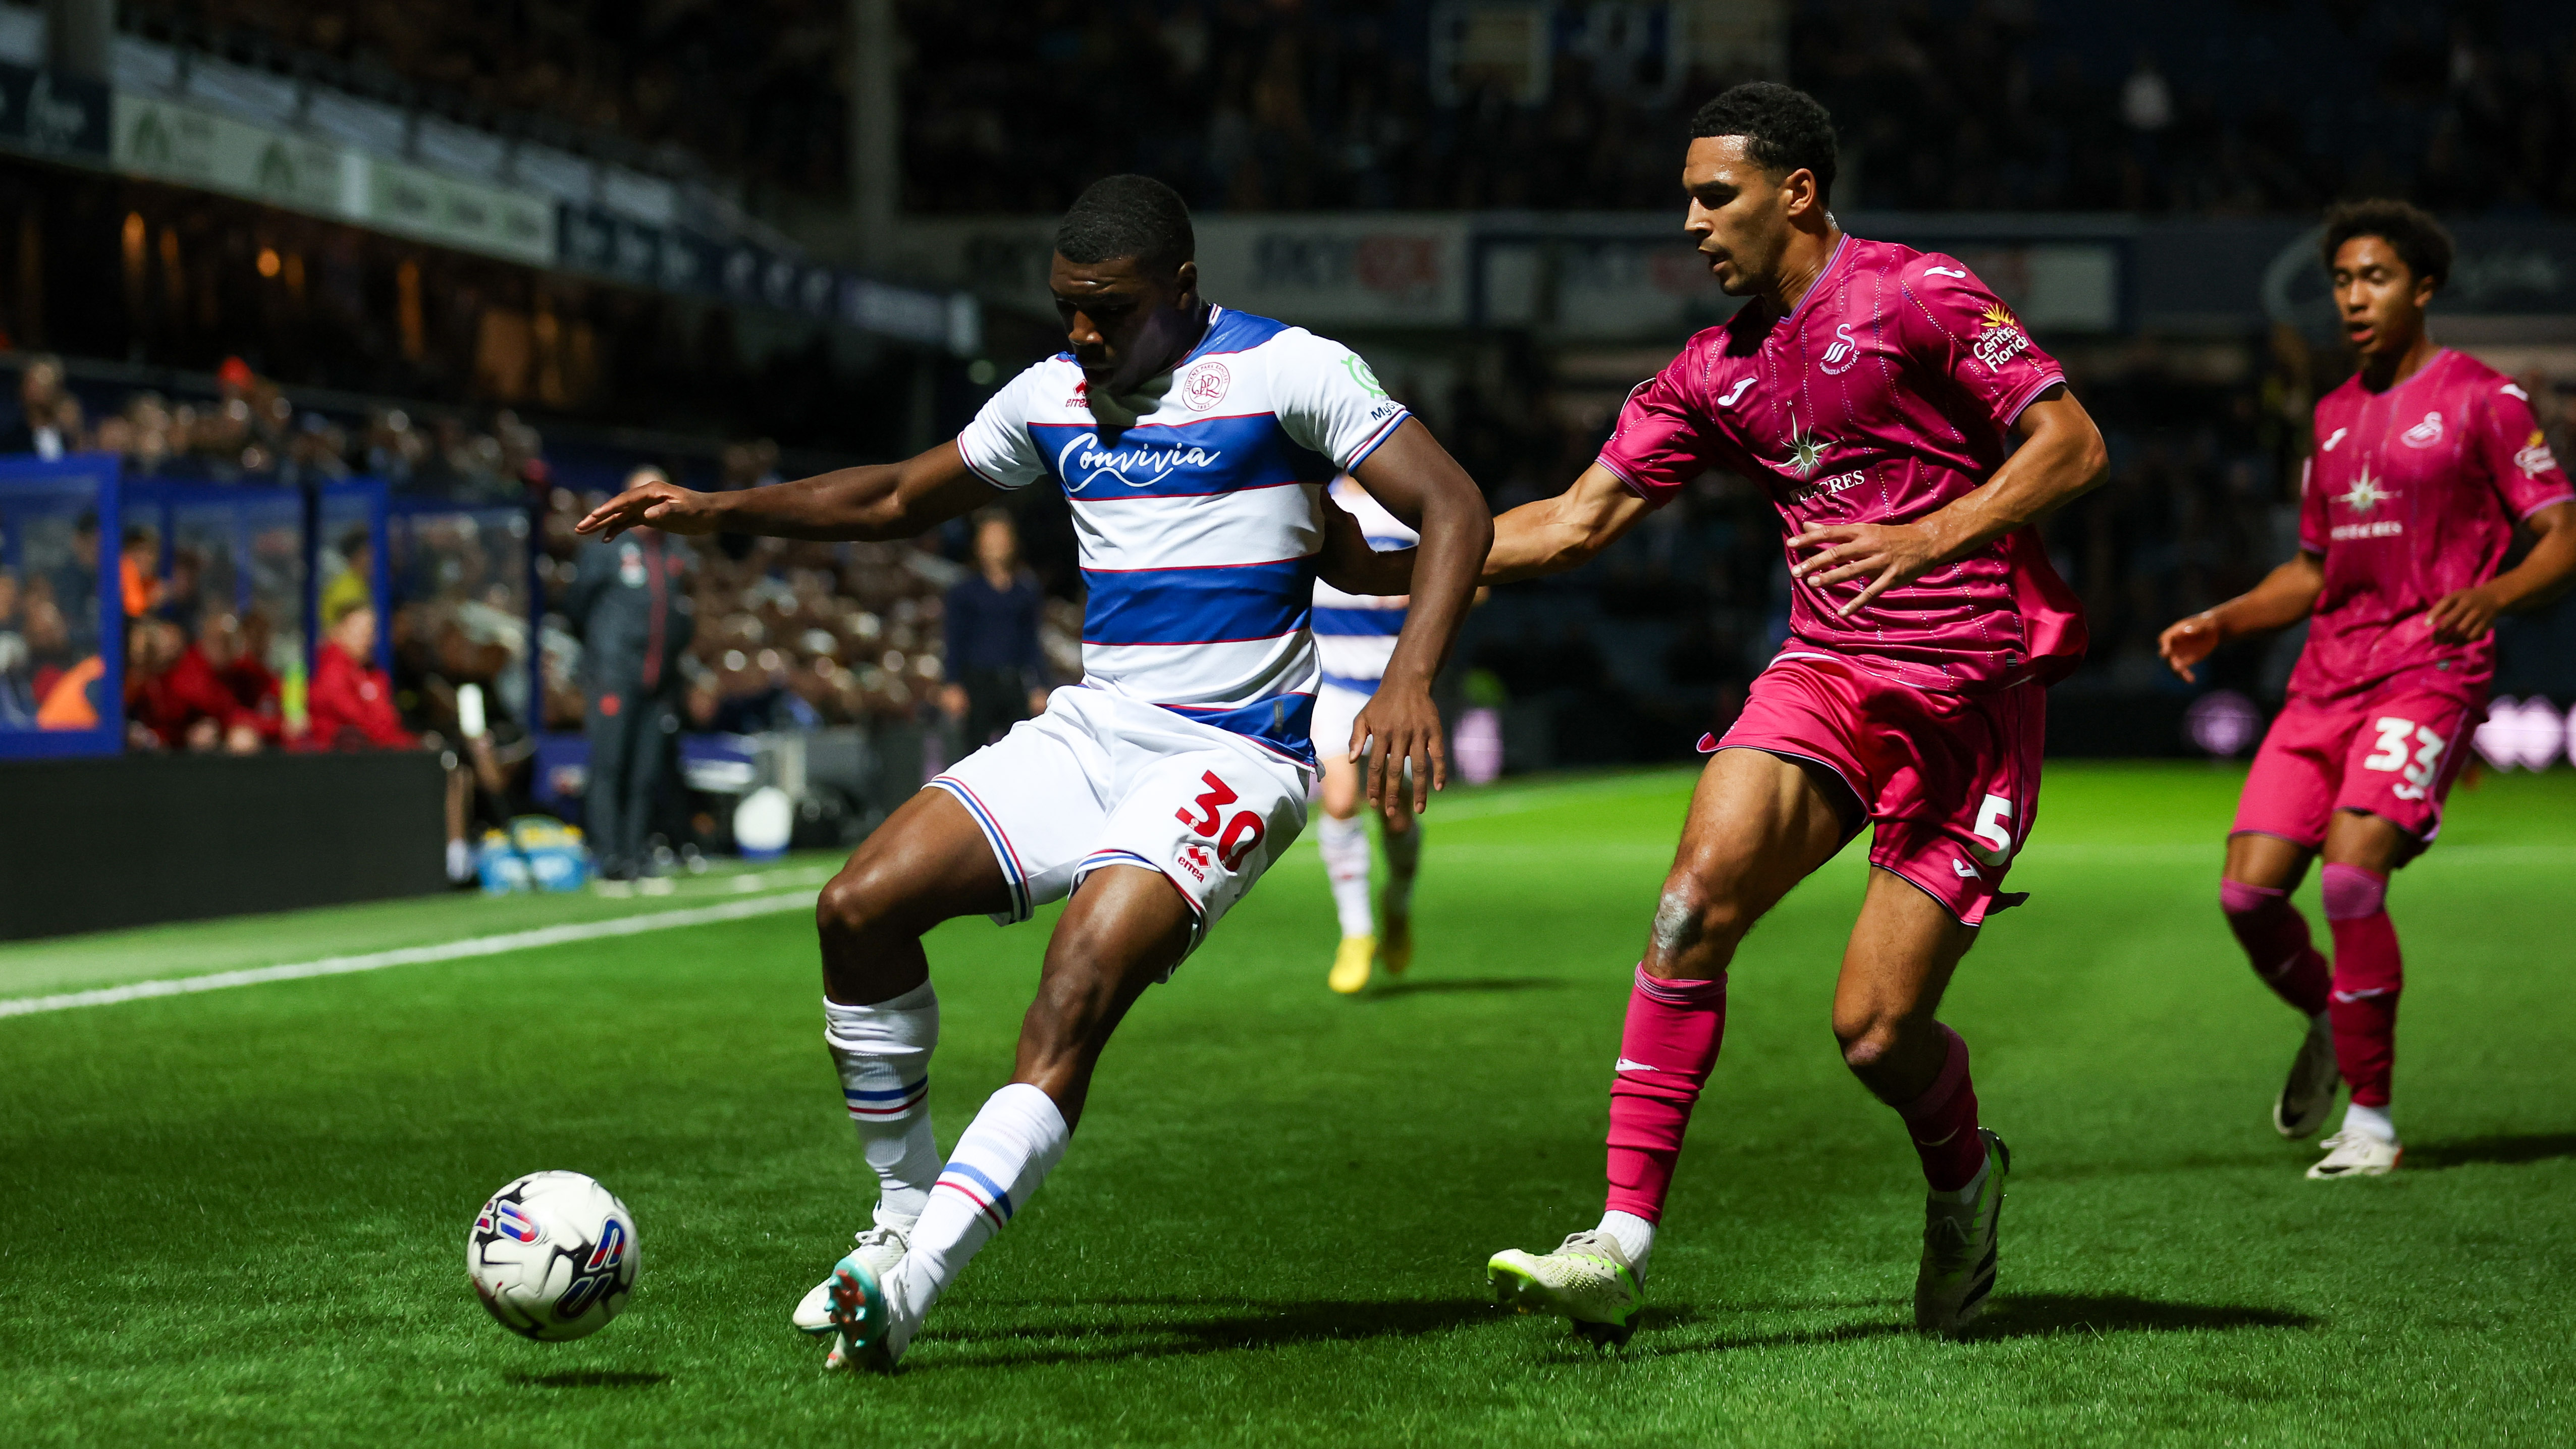
<path fill-rule="evenodd" d="M 1847 237 L 1834 129 L 1785 85 L 1692 119 L 1685 229 L 1752 297 L 1628 394 L 1571 490 L 1494 521 L 1484 580 L 1574 567 L 1682 485 L 1770 490 L 1790 639 L 1713 750 L 1628 998 L 1600 1227 L 1497 1253 L 1502 1302 L 1628 1338 L 1690 1109 L 1718 1060 L 1726 964 L 1793 884 L 1875 822 L 1834 987 L 1852 1073 L 1922 1155 L 1929 1220 L 1914 1323 L 1953 1333 L 1994 1287 L 2009 1155 L 1978 1127 L 1968 1047 L 1935 1021 L 2002 895 L 2040 789 L 2048 681 L 2084 621 L 2030 529 L 2092 487 L 2102 436 L 2056 361 L 1953 258 Z M 2020 449 L 2014 449 L 2020 438 Z"/>

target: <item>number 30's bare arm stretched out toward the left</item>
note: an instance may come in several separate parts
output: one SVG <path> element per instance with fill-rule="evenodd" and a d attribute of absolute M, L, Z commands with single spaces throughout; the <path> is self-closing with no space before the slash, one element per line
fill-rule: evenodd
<path fill-rule="evenodd" d="M 665 534 L 765 534 L 770 539 L 909 539 L 992 503 L 958 446 L 940 443 L 899 464 L 845 467 L 739 492 L 693 492 L 639 482 L 600 503 L 574 529 L 616 539 L 649 526 Z"/>

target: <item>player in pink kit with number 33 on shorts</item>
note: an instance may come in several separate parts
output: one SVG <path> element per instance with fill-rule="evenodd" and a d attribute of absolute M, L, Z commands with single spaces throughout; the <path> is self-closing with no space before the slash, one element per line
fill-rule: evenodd
<path fill-rule="evenodd" d="M 2486 717 L 2496 616 L 2576 572 L 2576 492 L 2530 400 L 2424 330 L 2450 255 L 2442 227 L 2401 201 L 2326 214 L 2334 304 L 2362 366 L 2316 405 L 2298 557 L 2161 639 L 2192 678 L 2218 645 L 2313 616 L 2218 882 L 2254 972 L 2308 1018 L 2272 1127 L 2308 1137 L 2336 1078 L 2352 1083 L 2311 1178 L 2375 1176 L 2403 1155 L 2388 1116 L 2403 985 L 2388 871 L 2442 828 L 2442 797 Z M 2517 521 L 2540 541 L 2499 572 Z M 2290 905 L 2316 853 L 2331 969 Z"/>

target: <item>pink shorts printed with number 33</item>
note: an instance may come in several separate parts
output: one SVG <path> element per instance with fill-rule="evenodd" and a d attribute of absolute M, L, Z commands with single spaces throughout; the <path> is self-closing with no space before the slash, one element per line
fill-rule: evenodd
<path fill-rule="evenodd" d="M 2411 859 L 2442 833 L 2442 799 L 2481 719 L 2483 699 L 2424 688 L 2352 704 L 2293 694 L 2254 750 L 2231 833 L 2280 835 L 2313 851 L 2336 810 L 2367 810 L 2414 841 Z"/>

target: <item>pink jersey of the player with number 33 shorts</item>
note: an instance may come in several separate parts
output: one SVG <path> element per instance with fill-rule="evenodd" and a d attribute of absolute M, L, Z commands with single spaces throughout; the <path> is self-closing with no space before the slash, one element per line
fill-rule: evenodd
<path fill-rule="evenodd" d="M 2298 547 L 2326 559 L 2326 590 L 2290 691 L 2483 691 L 2496 637 L 2445 645 L 2424 611 L 2496 578 L 2514 523 L 2571 498 L 2530 397 L 2476 358 L 2445 348 L 2388 392 L 2354 376 L 2321 397 Z"/>

